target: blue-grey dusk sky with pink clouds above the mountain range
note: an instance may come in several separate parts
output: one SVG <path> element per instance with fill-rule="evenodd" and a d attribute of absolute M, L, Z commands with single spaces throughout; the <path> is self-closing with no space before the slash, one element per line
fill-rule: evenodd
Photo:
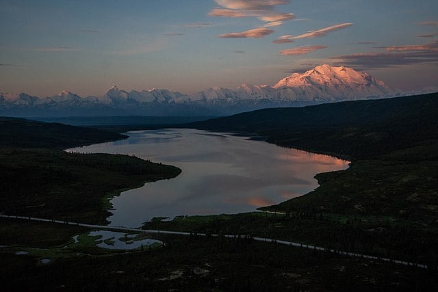
<path fill-rule="evenodd" d="M 0 92 L 274 85 L 331 64 L 438 88 L 436 0 L 0 0 Z"/>

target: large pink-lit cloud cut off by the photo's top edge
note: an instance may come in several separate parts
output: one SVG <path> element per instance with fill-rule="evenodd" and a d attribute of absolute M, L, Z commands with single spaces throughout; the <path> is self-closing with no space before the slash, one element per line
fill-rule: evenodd
<path fill-rule="evenodd" d="M 220 8 L 214 8 L 209 16 L 222 17 L 257 17 L 266 23 L 265 27 L 274 27 L 283 24 L 283 21 L 292 21 L 293 13 L 276 13 L 276 5 L 285 5 L 289 0 L 215 0 Z"/>

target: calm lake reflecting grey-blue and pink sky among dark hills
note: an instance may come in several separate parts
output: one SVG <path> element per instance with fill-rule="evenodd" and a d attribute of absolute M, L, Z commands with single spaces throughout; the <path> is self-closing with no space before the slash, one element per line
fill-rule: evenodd
<path fill-rule="evenodd" d="M 175 165 L 182 173 L 112 199 L 112 226 L 140 226 L 153 217 L 255 211 L 308 193 L 318 187 L 315 174 L 343 170 L 349 163 L 227 133 L 164 129 L 127 134 L 127 140 L 69 150 L 136 155 Z"/>

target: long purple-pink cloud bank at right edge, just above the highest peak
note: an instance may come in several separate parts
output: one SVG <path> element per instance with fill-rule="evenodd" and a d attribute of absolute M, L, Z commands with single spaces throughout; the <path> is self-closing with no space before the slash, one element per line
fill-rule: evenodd
<path fill-rule="evenodd" d="M 360 70 L 391 68 L 411 64 L 437 64 L 438 41 L 428 44 L 391 46 L 385 51 L 374 53 L 355 53 L 331 57 L 338 59 L 338 64 L 352 66 Z"/>

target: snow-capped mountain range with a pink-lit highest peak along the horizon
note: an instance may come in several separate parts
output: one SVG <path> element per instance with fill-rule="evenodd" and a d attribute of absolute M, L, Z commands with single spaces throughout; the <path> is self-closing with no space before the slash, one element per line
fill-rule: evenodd
<path fill-rule="evenodd" d="M 120 90 L 85 98 L 63 90 L 40 98 L 0 93 L 1 116 L 213 116 L 266 107 L 301 107 L 336 101 L 398 96 L 400 92 L 365 72 L 317 66 L 269 85 L 242 84 L 237 89 L 209 88 L 194 94 L 165 89 Z"/>

